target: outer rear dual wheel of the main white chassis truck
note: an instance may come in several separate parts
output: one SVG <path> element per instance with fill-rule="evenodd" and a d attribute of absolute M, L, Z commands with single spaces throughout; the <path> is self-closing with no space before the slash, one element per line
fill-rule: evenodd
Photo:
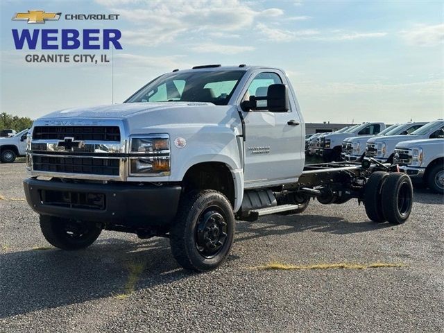
<path fill-rule="evenodd" d="M 382 188 L 382 212 L 387 221 L 402 224 L 409 219 L 413 205 L 413 185 L 404 173 L 391 173 Z"/>

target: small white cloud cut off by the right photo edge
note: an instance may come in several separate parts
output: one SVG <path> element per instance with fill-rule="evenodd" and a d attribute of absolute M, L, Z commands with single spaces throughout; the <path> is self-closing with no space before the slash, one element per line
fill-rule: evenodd
<path fill-rule="evenodd" d="M 418 24 L 409 31 L 401 31 L 400 35 L 410 45 L 436 46 L 444 42 L 444 23 L 433 26 Z"/>

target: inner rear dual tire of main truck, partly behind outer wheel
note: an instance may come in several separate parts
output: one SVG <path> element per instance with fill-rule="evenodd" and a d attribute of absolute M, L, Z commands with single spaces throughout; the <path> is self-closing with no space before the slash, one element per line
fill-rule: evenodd
<path fill-rule="evenodd" d="M 368 219 L 376 223 L 386 221 L 382 210 L 382 188 L 388 173 L 384 171 L 376 171 L 368 178 L 366 188 L 364 190 L 364 206 Z"/>

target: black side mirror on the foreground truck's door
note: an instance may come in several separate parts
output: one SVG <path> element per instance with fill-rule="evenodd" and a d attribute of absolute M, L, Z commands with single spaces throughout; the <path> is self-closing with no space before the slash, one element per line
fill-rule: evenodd
<path fill-rule="evenodd" d="M 266 103 L 257 103 L 257 101 L 266 101 Z M 241 108 L 244 111 L 268 110 L 270 112 L 287 112 L 290 110 L 289 88 L 282 83 L 270 85 L 268 86 L 266 96 L 250 96 L 248 101 L 241 103 Z"/>

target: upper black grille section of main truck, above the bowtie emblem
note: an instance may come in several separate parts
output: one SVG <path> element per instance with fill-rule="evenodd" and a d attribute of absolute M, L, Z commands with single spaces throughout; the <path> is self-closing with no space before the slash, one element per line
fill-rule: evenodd
<path fill-rule="evenodd" d="M 35 140 L 63 140 L 74 137 L 76 141 L 116 141 L 120 142 L 119 126 L 35 126 Z"/>

